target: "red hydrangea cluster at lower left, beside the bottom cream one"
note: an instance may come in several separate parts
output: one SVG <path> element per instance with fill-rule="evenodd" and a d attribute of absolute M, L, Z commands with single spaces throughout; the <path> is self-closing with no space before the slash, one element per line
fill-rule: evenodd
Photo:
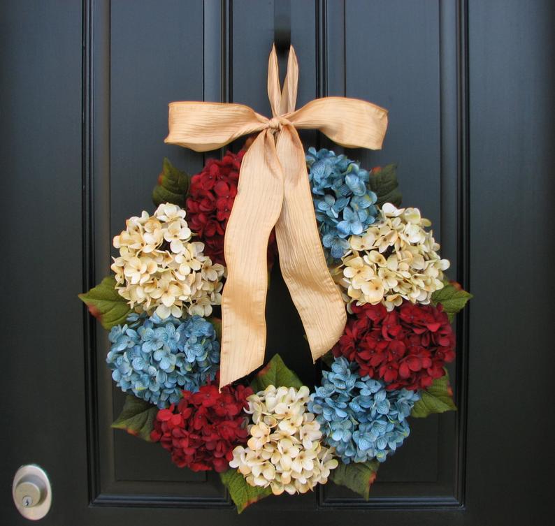
<path fill-rule="evenodd" d="M 218 392 L 215 385 L 202 386 L 197 393 L 183 391 L 178 403 L 160 409 L 150 434 L 171 452 L 179 467 L 194 472 L 215 469 L 224 472 L 233 458 L 233 448 L 247 442 L 247 397 L 252 389 L 226 386 Z"/>

